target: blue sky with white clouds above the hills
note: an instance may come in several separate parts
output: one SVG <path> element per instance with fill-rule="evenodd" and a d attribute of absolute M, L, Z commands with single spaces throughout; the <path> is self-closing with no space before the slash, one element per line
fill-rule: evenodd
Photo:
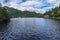
<path fill-rule="evenodd" d="M 21 11 L 45 13 L 59 6 L 60 0 L 0 0 L 3 6 L 13 7 Z"/>

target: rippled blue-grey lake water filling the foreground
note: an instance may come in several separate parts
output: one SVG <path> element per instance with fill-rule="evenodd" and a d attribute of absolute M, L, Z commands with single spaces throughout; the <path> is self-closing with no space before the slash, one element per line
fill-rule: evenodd
<path fill-rule="evenodd" d="M 60 40 L 60 20 L 11 18 L 0 23 L 0 40 Z"/>

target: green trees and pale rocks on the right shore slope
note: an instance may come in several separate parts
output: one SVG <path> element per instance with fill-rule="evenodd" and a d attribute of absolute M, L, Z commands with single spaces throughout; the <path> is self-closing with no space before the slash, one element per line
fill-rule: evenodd
<path fill-rule="evenodd" d="M 59 18 L 60 19 L 60 6 L 53 8 L 51 11 L 47 11 L 43 15 L 46 18 Z"/>

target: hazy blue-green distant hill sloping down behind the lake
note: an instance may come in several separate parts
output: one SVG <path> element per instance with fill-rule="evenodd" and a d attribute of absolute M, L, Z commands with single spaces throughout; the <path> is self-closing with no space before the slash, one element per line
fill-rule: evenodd
<path fill-rule="evenodd" d="M 5 7 L 8 9 L 12 17 L 42 17 L 43 15 L 36 12 L 21 11 L 10 7 Z"/>

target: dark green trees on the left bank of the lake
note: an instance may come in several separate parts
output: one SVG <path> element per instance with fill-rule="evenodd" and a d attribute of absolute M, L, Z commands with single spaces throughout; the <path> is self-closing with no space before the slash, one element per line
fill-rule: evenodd
<path fill-rule="evenodd" d="M 0 4 L 0 21 L 8 20 L 9 18 L 9 11 Z"/>

